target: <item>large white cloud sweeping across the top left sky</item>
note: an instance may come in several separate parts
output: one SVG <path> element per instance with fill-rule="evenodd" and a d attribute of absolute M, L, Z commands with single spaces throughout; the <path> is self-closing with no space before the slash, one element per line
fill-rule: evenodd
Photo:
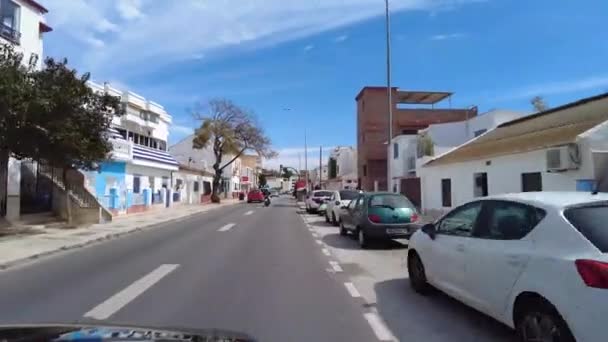
<path fill-rule="evenodd" d="M 75 50 L 93 72 L 146 72 L 225 48 L 259 48 L 381 16 L 378 0 L 47 0 L 55 35 L 104 42 Z M 436 11 L 478 0 L 392 0 L 393 12 Z M 145 13 L 146 20 L 127 20 Z M 91 39 L 89 38 L 90 42 Z M 100 45 L 97 41 L 97 45 Z M 69 47 L 57 47 L 57 50 Z M 85 51 L 83 54 L 82 51 Z M 137 51 L 134 58 L 132 51 Z"/>

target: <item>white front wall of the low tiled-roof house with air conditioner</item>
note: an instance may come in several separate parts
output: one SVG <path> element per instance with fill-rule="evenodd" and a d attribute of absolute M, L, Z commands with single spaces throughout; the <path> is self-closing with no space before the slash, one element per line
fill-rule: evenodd
<path fill-rule="evenodd" d="M 593 164 L 588 149 L 581 147 L 581 166 L 578 170 L 549 173 L 546 171 L 546 150 L 537 150 L 462 163 L 425 166 L 420 168 L 422 208 L 425 211 L 447 209 L 442 207 L 441 180 L 451 179 L 452 207 L 474 198 L 473 174 L 486 172 L 488 194 L 520 192 L 521 174 L 540 172 L 543 191 L 575 191 L 576 181 L 593 179 Z M 486 163 L 490 162 L 490 165 Z"/>

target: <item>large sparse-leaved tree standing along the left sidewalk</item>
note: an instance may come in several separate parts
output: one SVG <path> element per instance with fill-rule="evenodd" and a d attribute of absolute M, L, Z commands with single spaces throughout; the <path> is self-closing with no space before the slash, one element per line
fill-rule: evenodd
<path fill-rule="evenodd" d="M 220 201 L 218 188 L 222 173 L 245 151 L 255 151 L 260 157 L 273 158 L 270 139 L 258 124 L 255 114 L 244 110 L 226 99 L 213 99 L 194 111 L 195 119 L 201 121 L 194 132 L 192 147 L 202 149 L 211 146 L 215 156 L 213 164 L 213 189 L 211 201 Z M 231 158 L 223 163 L 223 158 Z"/>

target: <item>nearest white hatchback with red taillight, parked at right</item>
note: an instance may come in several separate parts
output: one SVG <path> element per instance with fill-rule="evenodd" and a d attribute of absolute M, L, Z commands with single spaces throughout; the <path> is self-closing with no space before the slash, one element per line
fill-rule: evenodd
<path fill-rule="evenodd" d="M 408 272 L 522 341 L 606 341 L 608 194 L 527 192 L 455 208 L 415 232 Z"/>

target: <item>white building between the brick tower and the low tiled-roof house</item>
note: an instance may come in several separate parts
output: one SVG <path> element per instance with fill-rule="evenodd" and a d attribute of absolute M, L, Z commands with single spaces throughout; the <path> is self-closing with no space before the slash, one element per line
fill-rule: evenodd
<path fill-rule="evenodd" d="M 418 134 L 402 134 L 392 140 L 391 185 L 393 192 L 405 194 L 420 205 L 420 167 L 438 156 L 481 136 L 498 125 L 527 115 L 508 110 L 492 110 L 469 120 L 432 124 Z"/>

